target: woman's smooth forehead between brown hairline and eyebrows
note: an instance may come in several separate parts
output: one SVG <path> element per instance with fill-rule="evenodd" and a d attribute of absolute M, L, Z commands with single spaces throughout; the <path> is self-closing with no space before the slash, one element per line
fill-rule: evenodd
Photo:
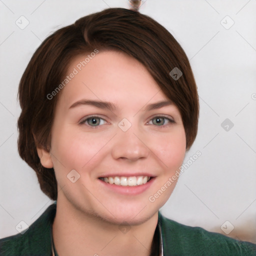
<path fill-rule="evenodd" d="M 61 91 L 60 100 L 66 104 L 83 97 L 117 104 L 167 99 L 145 66 L 122 52 L 79 55 L 69 64 L 66 75 L 69 79 L 72 76 Z"/>

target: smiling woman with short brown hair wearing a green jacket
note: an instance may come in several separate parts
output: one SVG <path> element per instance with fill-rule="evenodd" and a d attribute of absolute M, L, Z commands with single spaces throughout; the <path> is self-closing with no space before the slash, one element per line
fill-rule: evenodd
<path fill-rule="evenodd" d="M 109 8 L 58 29 L 28 63 L 19 100 L 19 154 L 56 202 L 1 239 L 1 255 L 255 255 L 158 212 L 199 106 L 184 51 L 155 20 Z"/>

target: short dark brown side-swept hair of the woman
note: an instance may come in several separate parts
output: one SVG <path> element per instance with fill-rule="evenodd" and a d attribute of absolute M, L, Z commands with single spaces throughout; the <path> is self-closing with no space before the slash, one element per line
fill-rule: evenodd
<path fill-rule="evenodd" d="M 138 11 L 109 8 L 84 16 L 48 36 L 31 57 L 19 83 L 18 152 L 36 174 L 41 190 L 57 199 L 54 170 L 41 165 L 36 146 L 49 151 L 54 109 L 60 93 L 47 95 L 63 80 L 72 58 L 94 49 L 122 51 L 141 62 L 180 111 L 186 149 L 198 123 L 198 95 L 189 61 L 179 43 L 158 22 Z M 173 68 L 182 72 L 173 79 Z"/>

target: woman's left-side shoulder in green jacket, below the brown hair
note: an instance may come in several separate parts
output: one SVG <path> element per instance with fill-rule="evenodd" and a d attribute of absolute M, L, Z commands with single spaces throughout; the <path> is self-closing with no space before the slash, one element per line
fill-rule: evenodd
<path fill-rule="evenodd" d="M 1 256 L 50 255 L 51 224 L 56 213 L 53 203 L 23 233 L 0 239 Z"/>

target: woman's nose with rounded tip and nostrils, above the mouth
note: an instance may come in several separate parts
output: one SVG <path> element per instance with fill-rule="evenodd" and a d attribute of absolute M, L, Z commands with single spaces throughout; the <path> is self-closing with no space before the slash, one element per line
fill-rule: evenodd
<path fill-rule="evenodd" d="M 129 161 L 146 158 L 150 153 L 146 140 L 145 134 L 134 131 L 132 128 L 127 131 L 118 130 L 114 136 L 112 157 Z"/>

